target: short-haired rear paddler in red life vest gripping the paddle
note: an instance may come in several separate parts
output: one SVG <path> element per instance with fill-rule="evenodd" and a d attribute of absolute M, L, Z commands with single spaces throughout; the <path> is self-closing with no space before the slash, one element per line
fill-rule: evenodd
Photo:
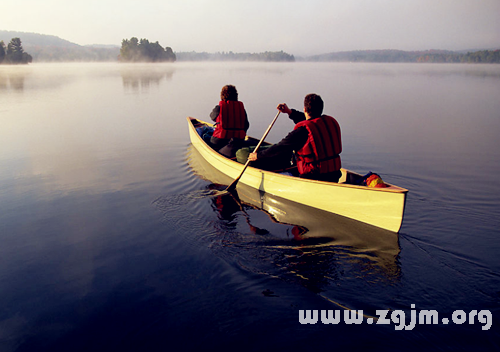
<path fill-rule="evenodd" d="M 289 115 L 295 128 L 272 147 L 250 153 L 252 166 L 270 170 L 277 160 L 290 160 L 295 152 L 300 177 L 338 182 L 342 172 L 340 126 L 333 117 L 323 115 L 323 100 L 317 94 L 304 99 L 304 112 L 279 104 L 278 110 Z"/>

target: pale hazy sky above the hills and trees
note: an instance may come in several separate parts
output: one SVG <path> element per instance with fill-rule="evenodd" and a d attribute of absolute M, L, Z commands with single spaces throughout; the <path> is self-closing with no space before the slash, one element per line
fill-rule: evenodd
<path fill-rule="evenodd" d="M 500 0 L 1 0 L 0 29 L 71 42 L 295 55 L 500 48 Z M 21 38 L 22 39 L 22 38 Z"/>

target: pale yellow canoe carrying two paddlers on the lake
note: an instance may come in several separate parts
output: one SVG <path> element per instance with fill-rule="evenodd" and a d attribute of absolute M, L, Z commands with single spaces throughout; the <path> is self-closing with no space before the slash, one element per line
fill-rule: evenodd
<path fill-rule="evenodd" d="M 198 134 L 196 128 L 213 126 L 188 117 L 189 136 L 194 148 L 213 167 L 230 179 L 238 177 L 243 164 L 214 151 Z M 250 186 L 292 202 L 321 209 L 354 219 L 392 232 L 399 232 L 403 221 L 407 189 L 387 184 L 385 188 L 371 188 L 345 183 L 349 175 L 361 176 L 342 169 L 339 183 L 308 180 L 264 171 L 249 166 L 242 175 L 240 184 Z"/>

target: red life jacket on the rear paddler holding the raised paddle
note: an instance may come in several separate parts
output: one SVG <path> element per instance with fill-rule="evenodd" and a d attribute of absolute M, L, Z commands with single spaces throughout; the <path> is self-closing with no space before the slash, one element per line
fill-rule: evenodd
<path fill-rule="evenodd" d="M 300 174 L 326 174 L 341 168 L 340 152 L 342 140 L 340 126 L 333 117 L 323 115 L 301 121 L 294 129 L 305 127 L 309 137 L 302 149 L 296 152 L 297 167 Z"/>

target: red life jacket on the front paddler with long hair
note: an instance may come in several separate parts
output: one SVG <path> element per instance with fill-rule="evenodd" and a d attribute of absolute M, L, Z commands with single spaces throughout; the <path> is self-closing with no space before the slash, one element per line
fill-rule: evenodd
<path fill-rule="evenodd" d="M 245 133 L 245 107 L 241 101 L 220 101 L 220 112 L 213 136 L 221 139 L 243 139 Z"/>

